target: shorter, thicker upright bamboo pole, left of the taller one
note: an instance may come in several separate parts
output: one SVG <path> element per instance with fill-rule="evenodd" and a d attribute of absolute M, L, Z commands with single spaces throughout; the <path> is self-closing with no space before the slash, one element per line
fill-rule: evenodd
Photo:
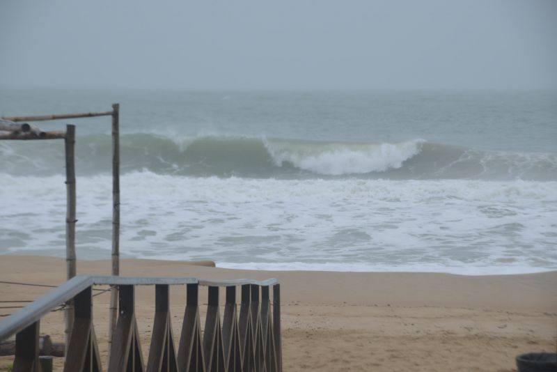
<path fill-rule="evenodd" d="M 65 136 L 65 184 L 66 184 L 66 227 L 65 227 L 65 261 L 67 279 L 70 280 L 75 277 L 76 263 L 75 263 L 75 205 L 76 205 L 76 192 L 75 192 L 75 125 L 66 126 Z M 72 325 L 74 322 L 73 302 L 68 302 L 65 311 L 65 341 L 66 345 L 70 341 L 70 334 L 72 333 Z"/>

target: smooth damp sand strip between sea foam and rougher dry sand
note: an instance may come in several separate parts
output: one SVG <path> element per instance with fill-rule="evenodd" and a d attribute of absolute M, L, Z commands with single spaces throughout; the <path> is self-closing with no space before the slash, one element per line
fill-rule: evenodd
<path fill-rule="evenodd" d="M 110 275 L 109 260 L 77 261 L 78 275 Z M 31 275 L 59 285 L 65 260 L 49 256 L 0 256 L 0 280 Z M 120 258 L 122 276 L 268 279 L 281 282 L 287 301 L 404 306 L 485 306 L 496 309 L 557 311 L 557 271 L 533 274 L 461 275 L 439 272 L 336 272 L 239 270 L 212 267 L 212 261 Z M 363 295 L 365 293 L 365 295 Z"/>

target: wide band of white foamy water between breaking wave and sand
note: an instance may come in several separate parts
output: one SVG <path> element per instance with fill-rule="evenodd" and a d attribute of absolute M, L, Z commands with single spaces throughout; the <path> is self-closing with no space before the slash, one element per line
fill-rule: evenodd
<path fill-rule="evenodd" d="M 0 253 L 63 256 L 63 177 L 3 174 L 0 182 L 6 185 Z M 145 171 L 128 173 L 121 183 L 127 257 L 281 270 L 557 269 L 556 182 L 191 178 Z M 109 258 L 111 178 L 81 177 L 77 188 L 78 255 Z"/>

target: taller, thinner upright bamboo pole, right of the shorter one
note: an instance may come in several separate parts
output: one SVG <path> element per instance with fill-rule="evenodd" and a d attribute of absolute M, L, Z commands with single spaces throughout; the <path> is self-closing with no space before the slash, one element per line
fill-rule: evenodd
<path fill-rule="evenodd" d="M 118 103 L 112 105 L 112 274 L 120 275 L 120 104 Z M 109 350 L 116 330 L 117 304 L 118 287 L 113 286 L 109 310 Z"/>

